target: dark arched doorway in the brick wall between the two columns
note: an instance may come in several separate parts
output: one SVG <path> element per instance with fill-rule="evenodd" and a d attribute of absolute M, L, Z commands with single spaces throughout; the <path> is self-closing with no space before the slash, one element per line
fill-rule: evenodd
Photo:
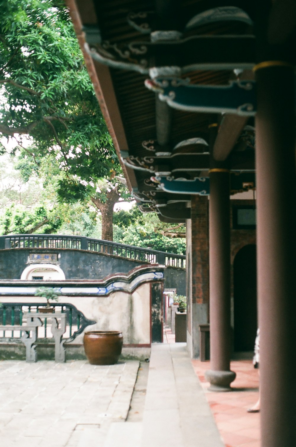
<path fill-rule="evenodd" d="M 251 351 L 257 330 L 256 245 L 246 245 L 233 262 L 234 351 Z"/>

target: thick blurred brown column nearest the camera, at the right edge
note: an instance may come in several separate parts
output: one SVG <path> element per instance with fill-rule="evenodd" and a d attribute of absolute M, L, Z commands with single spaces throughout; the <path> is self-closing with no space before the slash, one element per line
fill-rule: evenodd
<path fill-rule="evenodd" d="M 296 446 L 295 72 L 255 67 L 261 445 Z"/>

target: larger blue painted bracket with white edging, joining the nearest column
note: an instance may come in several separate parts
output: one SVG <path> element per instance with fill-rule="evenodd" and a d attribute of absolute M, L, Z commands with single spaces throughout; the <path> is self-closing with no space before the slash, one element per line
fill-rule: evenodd
<path fill-rule="evenodd" d="M 229 85 L 192 85 L 189 80 L 157 78 L 146 80 L 145 85 L 174 109 L 242 116 L 254 116 L 256 113 L 254 81 L 233 81 Z"/>

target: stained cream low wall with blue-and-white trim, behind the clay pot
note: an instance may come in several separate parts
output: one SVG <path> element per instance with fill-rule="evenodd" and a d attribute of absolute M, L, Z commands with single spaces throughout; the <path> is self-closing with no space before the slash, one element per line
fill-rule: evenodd
<path fill-rule="evenodd" d="M 21 311 L 23 314 L 28 312 L 28 306 L 31 306 L 29 312 L 36 312 L 32 308 L 37 308 L 43 301 L 41 297 L 34 295 L 41 283 L 42 281 L 0 281 L 0 301 L 3 304 L 0 308 L 2 324 L 21 324 L 18 315 Z M 61 312 L 59 303 L 64 306 L 64 311 L 66 304 L 72 305 L 72 311 L 65 314 L 68 321 L 67 329 L 72 325 L 72 333 L 79 328 L 82 330 L 85 327 L 84 325 L 88 323 L 86 331 L 121 331 L 124 337 L 124 345 L 127 346 L 149 347 L 151 342 L 162 341 L 163 268 L 157 264 L 137 267 L 128 274 L 109 275 L 99 281 L 64 280 L 61 282 L 51 281 L 46 284 L 50 287 L 59 288 L 61 295 L 58 296 L 58 302 L 54 303 L 54 306 L 58 306 L 58 308 L 55 307 L 56 312 Z M 19 305 L 17 306 L 17 304 Z M 73 306 L 80 312 L 81 318 L 79 317 L 78 327 L 77 312 L 75 308 L 73 309 Z M 67 308 L 69 309 L 71 306 Z M 9 312 L 11 313 L 9 314 Z M 39 318 L 42 319 L 42 314 L 39 315 Z M 25 321 L 23 321 L 23 324 L 25 324 Z M 2 329 L 0 331 L 2 339 L 0 341 L 7 342 L 7 337 L 13 337 L 13 334 L 10 334 L 11 330 L 11 328 L 5 331 Z M 19 329 L 16 329 L 17 331 Z M 38 329 L 38 337 L 48 338 L 52 336 L 49 322 L 48 333 L 46 334 L 44 331 L 45 327 L 43 325 Z M 14 337 L 19 337 L 19 334 Z M 71 337 L 71 333 L 66 331 L 63 337 L 67 339 Z M 73 340 L 73 343 L 81 345 L 83 343 L 83 333 L 79 334 Z"/>

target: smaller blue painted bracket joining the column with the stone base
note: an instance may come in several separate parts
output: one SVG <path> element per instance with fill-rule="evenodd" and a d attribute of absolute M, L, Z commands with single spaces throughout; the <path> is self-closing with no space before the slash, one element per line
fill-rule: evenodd
<path fill-rule="evenodd" d="M 194 180 L 173 180 L 170 177 L 156 177 L 163 191 L 177 194 L 210 194 L 210 179 L 197 177 Z"/>

